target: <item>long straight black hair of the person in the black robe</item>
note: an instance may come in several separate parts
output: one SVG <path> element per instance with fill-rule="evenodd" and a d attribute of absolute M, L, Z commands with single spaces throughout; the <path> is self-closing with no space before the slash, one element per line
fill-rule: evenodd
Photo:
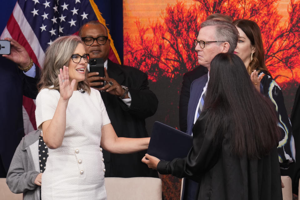
<path fill-rule="evenodd" d="M 275 108 L 257 92 L 242 60 L 220 53 L 212 60 L 209 75 L 204 109 L 209 108 L 209 121 L 219 129 L 219 142 L 230 130 L 233 154 L 252 159 L 270 153 L 280 134 Z"/>

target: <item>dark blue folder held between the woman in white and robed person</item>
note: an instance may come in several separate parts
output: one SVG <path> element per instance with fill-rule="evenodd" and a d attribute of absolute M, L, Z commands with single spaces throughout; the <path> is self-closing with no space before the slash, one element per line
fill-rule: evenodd
<path fill-rule="evenodd" d="M 185 158 L 193 144 L 193 137 L 160 122 L 154 122 L 147 153 L 160 160 Z"/>

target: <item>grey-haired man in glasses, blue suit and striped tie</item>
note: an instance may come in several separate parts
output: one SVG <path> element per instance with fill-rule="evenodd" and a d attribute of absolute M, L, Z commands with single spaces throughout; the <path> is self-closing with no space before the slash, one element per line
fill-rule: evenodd
<path fill-rule="evenodd" d="M 207 68 L 208 73 L 195 79 L 191 84 L 190 98 L 187 108 L 187 133 L 192 135 L 192 128 L 205 102 L 205 92 L 209 81 L 209 70 L 212 59 L 218 53 L 234 52 L 239 37 L 237 28 L 230 22 L 208 20 L 201 24 L 195 42 L 198 63 Z M 197 131 L 197 130 L 193 130 Z M 196 198 L 198 183 L 185 179 L 183 182 L 182 199 Z"/>

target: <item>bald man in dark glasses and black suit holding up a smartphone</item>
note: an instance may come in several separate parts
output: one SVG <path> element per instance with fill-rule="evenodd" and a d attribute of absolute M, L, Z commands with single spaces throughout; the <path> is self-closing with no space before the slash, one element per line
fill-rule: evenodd
<path fill-rule="evenodd" d="M 79 29 L 79 36 L 90 59 L 103 58 L 105 77 L 98 77 L 98 72 L 88 73 L 88 81 L 91 87 L 102 85 L 93 81 L 106 82 L 105 86 L 95 89 L 102 91 L 103 102 L 118 137 L 149 137 L 145 118 L 156 112 L 158 100 L 149 90 L 148 75 L 108 59 L 110 39 L 102 23 L 90 21 L 84 24 Z M 145 153 L 113 154 L 103 150 L 105 177 L 158 177 L 156 170 L 141 162 Z"/>

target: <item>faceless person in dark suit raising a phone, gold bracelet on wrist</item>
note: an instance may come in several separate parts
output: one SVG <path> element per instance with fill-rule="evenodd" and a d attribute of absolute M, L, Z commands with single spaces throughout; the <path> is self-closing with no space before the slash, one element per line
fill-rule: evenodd
<path fill-rule="evenodd" d="M 23 95 L 35 99 L 40 68 L 35 66 L 25 48 L 12 38 L 10 54 L 0 55 L 2 95 L 0 131 L 0 178 L 6 178 L 13 154 L 24 137 Z"/>

